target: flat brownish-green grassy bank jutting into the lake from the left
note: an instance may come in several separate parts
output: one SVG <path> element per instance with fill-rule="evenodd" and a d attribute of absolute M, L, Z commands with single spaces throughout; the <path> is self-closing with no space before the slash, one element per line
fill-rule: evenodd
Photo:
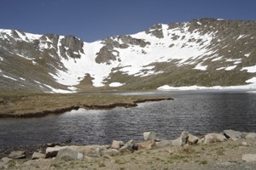
<path fill-rule="evenodd" d="M 44 94 L 26 91 L 0 92 L 0 117 L 31 117 L 85 109 L 131 107 L 139 102 L 170 99 L 166 97 L 124 96 L 108 93 Z"/>

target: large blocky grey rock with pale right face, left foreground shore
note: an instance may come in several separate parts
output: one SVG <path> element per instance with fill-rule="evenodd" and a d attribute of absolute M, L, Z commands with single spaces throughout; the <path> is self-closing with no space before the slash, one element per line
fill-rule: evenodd
<path fill-rule="evenodd" d="M 64 148 L 58 151 L 56 160 L 62 161 L 72 161 L 72 160 L 83 160 L 83 154 L 79 153 L 77 150 L 71 150 Z"/>

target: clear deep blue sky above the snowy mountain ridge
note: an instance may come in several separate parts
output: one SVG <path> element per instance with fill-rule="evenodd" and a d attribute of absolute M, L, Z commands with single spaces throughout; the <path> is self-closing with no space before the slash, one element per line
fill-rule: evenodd
<path fill-rule="evenodd" d="M 256 20 L 255 0 L 1 0 L 0 29 L 84 42 L 201 18 Z"/>

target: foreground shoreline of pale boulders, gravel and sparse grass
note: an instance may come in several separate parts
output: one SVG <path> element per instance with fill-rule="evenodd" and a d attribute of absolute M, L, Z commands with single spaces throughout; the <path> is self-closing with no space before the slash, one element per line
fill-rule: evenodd
<path fill-rule="evenodd" d="M 148 169 L 148 165 L 142 164 L 143 161 L 155 161 L 151 167 L 158 167 L 161 161 L 161 169 L 256 167 L 256 133 L 224 130 L 222 133 L 207 133 L 202 137 L 196 137 L 184 131 L 177 139 L 159 139 L 156 133 L 145 132 L 143 139 L 143 142 L 131 139 L 126 143 L 113 140 L 112 144 L 107 145 L 51 143 L 1 148 L 0 169 L 33 169 L 34 166 L 45 169 L 68 169 L 71 168 L 67 165 L 68 162 L 76 162 L 73 166 L 78 169 L 112 169 L 113 166 L 117 167 L 113 169 L 130 169 L 128 167 L 132 166 L 132 169 L 137 169 L 140 164 L 145 167 L 141 169 Z M 133 158 L 134 156 L 136 158 Z M 127 159 L 129 161 L 124 161 Z M 134 165 L 137 159 L 142 159 L 142 162 L 138 161 L 138 164 Z M 118 160 L 124 162 L 119 163 Z"/>

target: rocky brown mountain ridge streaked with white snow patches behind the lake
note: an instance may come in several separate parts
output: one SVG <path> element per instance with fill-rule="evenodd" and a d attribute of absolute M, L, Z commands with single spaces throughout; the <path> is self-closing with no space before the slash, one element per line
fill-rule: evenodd
<path fill-rule="evenodd" d="M 187 86 L 256 88 L 256 21 L 201 19 L 132 35 L 78 37 L 0 30 L 2 89 L 75 92 Z"/>

